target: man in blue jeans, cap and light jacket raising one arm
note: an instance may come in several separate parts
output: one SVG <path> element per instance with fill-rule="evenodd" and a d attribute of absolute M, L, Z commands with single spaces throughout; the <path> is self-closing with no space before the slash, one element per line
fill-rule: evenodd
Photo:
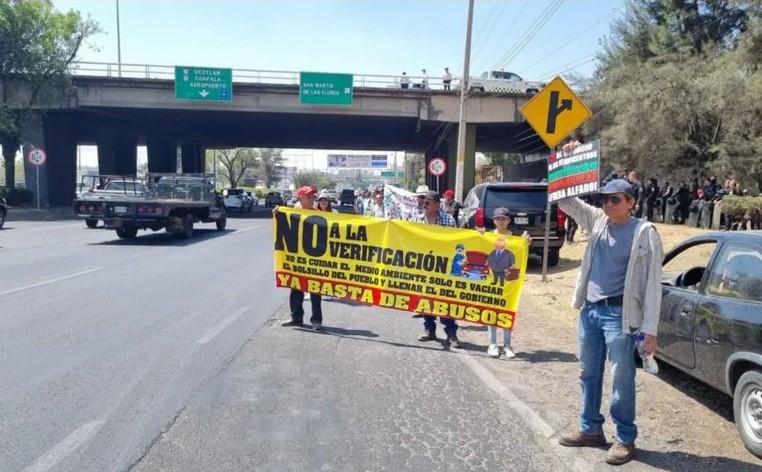
<path fill-rule="evenodd" d="M 579 430 L 563 434 L 571 447 L 602 447 L 601 415 L 606 354 L 611 360 L 611 419 L 616 425 L 609 464 L 629 462 L 635 453 L 635 343 L 645 335 L 648 354 L 656 351 L 661 310 L 662 244 L 653 224 L 633 218 L 632 185 L 612 180 L 600 192 L 602 208 L 577 198 L 559 202 L 564 213 L 590 234 L 574 291 L 580 309 L 579 344 L 582 409 Z"/>

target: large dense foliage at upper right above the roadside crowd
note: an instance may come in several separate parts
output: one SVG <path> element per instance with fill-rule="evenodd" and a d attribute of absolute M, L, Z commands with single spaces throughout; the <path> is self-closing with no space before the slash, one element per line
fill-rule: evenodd
<path fill-rule="evenodd" d="M 585 134 L 605 164 L 762 190 L 759 2 L 629 0 L 599 59 Z"/>

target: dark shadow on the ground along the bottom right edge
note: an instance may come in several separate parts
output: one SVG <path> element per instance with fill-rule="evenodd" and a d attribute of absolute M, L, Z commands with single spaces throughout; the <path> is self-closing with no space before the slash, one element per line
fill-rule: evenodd
<path fill-rule="evenodd" d="M 749 458 L 754 461 L 754 457 Z M 696 456 L 685 452 L 639 450 L 633 459 L 634 463 L 641 462 L 658 470 L 671 472 L 693 472 L 696 470 L 716 470 L 733 472 L 754 472 L 760 470 L 760 465 L 752 462 L 742 462 L 736 459 L 717 456 Z"/>

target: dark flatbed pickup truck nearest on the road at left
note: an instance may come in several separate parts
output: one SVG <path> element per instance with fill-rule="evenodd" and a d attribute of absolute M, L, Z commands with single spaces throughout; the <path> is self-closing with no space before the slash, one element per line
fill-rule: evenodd
<path fill-rule="evenodd" d="M 147 174 L 140 195 L 121 195 L 101 202 L 106 227 L 119 238 L 133 239 L 139 229 L 166 230 L 184 238 L 193 236 L 195 223 L 215 223 L 219 231 L 227 224 L 227 211 L 214 191 L 214 176 L 202 174 Z M 92 204 L 78 198 L 74 202 L 79 216 L 82 207 Z"/>

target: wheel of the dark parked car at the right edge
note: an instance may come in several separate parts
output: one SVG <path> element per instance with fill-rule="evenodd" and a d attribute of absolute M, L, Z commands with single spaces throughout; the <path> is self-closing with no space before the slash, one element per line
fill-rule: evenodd
<path fill-rule="evenodd" d="M 733 393 L 733 416 L 744 446 L 762 457 L 762 372 L 750 370 L 738 379 Z"/>

